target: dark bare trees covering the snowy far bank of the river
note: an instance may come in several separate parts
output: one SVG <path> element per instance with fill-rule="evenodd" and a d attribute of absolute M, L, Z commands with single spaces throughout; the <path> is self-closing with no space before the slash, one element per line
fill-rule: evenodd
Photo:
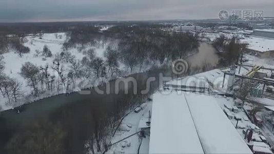
<path fill-rule="evenodd" d="M 199 47 L 197 34 L 170 33 L 157 26 L 112 27 L 104 32 L 100 32 L 98 27 L 88 26 L 76 28 L 68 33 L 69 39 L 63 44 L 62 52 L 52 55 L 46 45 L 42 51 L 35 51 L 34 56 L 53 56 L 51 64 L 36 66 L 27 62 L 22 65 L 19 74 L 31 88 L 33 97 L 45 92 L 67 93 L 76 86 L 85 87 L 87 81 L 92 83 L 94 80 L 104 82 L 114 79 L 124 74 L 125 70 L 121 70 L 121 64 L 125 65 L 130 73 L 151 66 L 167 65 L 175 59 L 184 59 Z M 24 37 L 15 42 L 23 46 Z M 96 45 L 107 45 L 104 51 L 105 59 L 95 55 Z M 23 53 L 29 52 L 29 49 L 23 48 L 18 50 L 21 57 Z M 76 59 L 69 51 L 71 48 L 82 52 L 83 59 Z M 3 62 L 3 59 L 0 62 Z M 1 63 L 0 68 L 4 69 Z M 18 97 L 22 98 L 24 94 L 22 83 L 4 73 L 0 76 L 3 97 L 8 99 L 7 104 L 16 104 Z"/>

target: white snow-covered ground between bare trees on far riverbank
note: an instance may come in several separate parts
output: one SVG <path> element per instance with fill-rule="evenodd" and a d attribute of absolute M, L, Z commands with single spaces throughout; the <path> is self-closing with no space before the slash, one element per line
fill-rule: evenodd
<path fill-rule="evenodd" d="M 44 83 L 44 85 L 39 83 L 38 89 L 41 93 L 38 94 L 38 97 L 34 97 L 31 94 L 32 90 L 31 90 L 30 86 L 27 85 L 27 81 L 19 74 L 19 72 L 21 71 L 22 65 L 25 64 L 26 62 L 31 62 L 38 67 L 40 67 L 40 66 L 45 67 L 46 65 L 48 65 L 49 66 L 49 69 L 48 69 L 49 74 L 51 76 L 54 75 L 57 78 L 57 80 L 60 80 L 58 73 L 55 70 L 53 70 L 51 67 L 53 65 L 54 54 L 61 53 L 63 51 L 62 46 L 63 46 L 63 43 L 67 39 L 69 39 L 69 38 L 66 36 L 66 33 L 45 33 L 42 36 L 37 36 L 37 35 L 33 36 L 30 34 L 29 36 L 24 37 L 24 40 L 25 40 L 24 46 L 27 46 L 30 48 L 29 53 L 23 54 L 23 57 L 20 57 L 18 55 L 18 53 L 16 53 L 15 51 L 10 51 L 8 53 L 3 54 L 4 62 L 5 62 L 4 73 L 7 76 L 9 76 L 10 78 L 16 79 L 22 83 L 22 91 L 24 93 L 24 97 L 18 98 L 18 101 L 16 103 L 12 102 L 11 104 L 9 104 L 9 103 L 7 103 L 8 99 L 3 98 L 3 96 L 0 95 L 0 110 L 1 109 L 7 110 L 7 109 L 13 108 L 15 106 L 22 105 L 24 103 L 43 99 L 43 98 L 50 97 L 52 95 L 56 95 L 56 94 L 60 94 L 60 93 L 80 91 L 81 89 L 84 89 L 84 88 L 96 86 L 96 85 L 100 84 L 102 82 L 102 80 L 104 80 L 103 82 L 107 82 L 108 80 L 110 80 L 110 78 L 111 79 L 119 78 L 121 76 L 125 76 L 130 73 L 146 71 L 146 70 L 150 69 L 152 65 L 158 65 L 158 64 L 144 63 L 144 66 L 141 70 L 140 70 L 139 66 L 136 66 L 133 68 L 133 70 L 131 72 L 130 68 L 126 67 L 123 63 L 119 62 L 120 71 L 118 71 L 118 73 L 114 74 L 112 77 L 110 77 L 110 75 L 108 75 L 108 77 L 109 77 L 108 79 L 101 79 L 101 78 L 97 79 L 94 77 L 95 76 L 94 73 L 89 77 L 88 80 L 85 78 L 83 78 L 83 79 L 76 78 L 74 81 L 75 83 L 69 83 L 70 87 L 69 87 L 68 91 L 66 90 L 66 87 L 63 87 L 63 86 L 58 91 L 56 90 L 56 88 L 53 89 L 52 91 L 49 91 L 49 90 L 46 90 L 45 83 Z M 87 46 L 84 50 L 95 49 L 96 56 L 101 57 L 103 60 L 106 60 L 106 58 L 104 57 L 104 51 L 106 50 L 108 45 L 115 46 L 116 43 L 117 42 L 115 42 L 115 41 L 107 42 L 104 44 L 103 44 L 103 42 L 101 42 L 101 43 L 99 43 L 100 45 L 98 45 L 98 46 Z M 52 57 L 45 58 L 45 56 L 42 55 L 42 53 L 37 56 L 36 50 L 39 50 L 40 52 L 42 52 L 45 45 L 51 51 Z M 85 56 L 85 53 L 83 51 L 78 51 L 77 48 L 69 49 L 68 52 L 70 52 L 72 56 L 75 56 L 75 60 L 81 61 L 83 59 L 83 57 Z M 65 74 L 65 76 L 67 76 L 69 69 L 71 69 L 70 65 L 71 64 L 69 64 L 67 62 L 61 62 L 61 66 L 64 67 L 63 74 Z M 57 87 L 57 85 L 60 85 L 60 82 L 54 83 L 53 86 Z"/>

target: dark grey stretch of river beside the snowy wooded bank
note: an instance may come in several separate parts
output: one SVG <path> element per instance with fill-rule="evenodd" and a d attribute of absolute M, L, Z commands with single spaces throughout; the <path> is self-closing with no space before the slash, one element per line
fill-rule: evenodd
<path fill-rule="evenodd" d="M 202 49 L 199 52 L 203 52 Z M 212 51 L 214 52 L 214 51 Z M 110 93 L 106 93 L 105 84 L 98 88 L 104 93 L 98 93 L 94 88 L 88 89 L 89 94 L 80 94 L 79 92 L 72 92 L 70 94 L 60 94 L 39 101 L 21 106 L 17 113 L 16 110 L 10 109 L 0 113 L 0 153 L 5 152 L 5 146 L 9 140 L 18 132 L 28 130 L 30 125 L 35 121 L 47 119 L 54 124 L 62 125 L 68 137 L 66 137 L 65 147 L 68 153 L 78 153 L 83 149 L 84 143 L 89 139 L 89 126 L 94 123 L 89 120 L 88 115 L 92 115 L 94 104 L 96 105 L 96 112 L 109 113 L 117 106 L 116 104 L 124 102 L 142 102 L 150 94 L 154 93 L 161 85 L 159 82 L 160 73 L 163 76 L 178 78 L 180 76 L 172 74 L 171 69 L 154 69 L 143 73 L 135 73 L 128 75 L 136 80 L 138 93 L 132 94 L 133 83 L 129 83 L 127 87 L 121 85 L 119 87 L 119 94 L 115 94 L 115 81 L 110 81 Z M 184 74 L 186 75 L 186 74 Z M 189 75 L 189 74 L 187 74 Z M 147 88 L 147 81 L 154 77 L 155 81 L 150 83 L 150 89 L 146 94 L 141 94 L 141 91 Z M 172 79 L 172 78 L 171 78 Z M 128 89 L 129 94 L 124 94 Z"/>

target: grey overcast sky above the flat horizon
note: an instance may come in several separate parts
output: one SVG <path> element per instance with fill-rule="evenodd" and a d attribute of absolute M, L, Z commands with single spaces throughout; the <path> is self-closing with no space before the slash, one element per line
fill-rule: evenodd
<path fill-rule="evenodd" d="M 274 0 L 0 0 L 0 22 L 202 19 L 220 10 L 274 16 Z"/>

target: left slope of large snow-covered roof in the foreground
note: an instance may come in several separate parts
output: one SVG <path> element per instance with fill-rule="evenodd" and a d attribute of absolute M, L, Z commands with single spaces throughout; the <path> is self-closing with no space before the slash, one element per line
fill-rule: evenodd
<path fill-rule="evenodd" d="M 182 95 L 153 95 L 149 153 L 204 153 Z"/>

